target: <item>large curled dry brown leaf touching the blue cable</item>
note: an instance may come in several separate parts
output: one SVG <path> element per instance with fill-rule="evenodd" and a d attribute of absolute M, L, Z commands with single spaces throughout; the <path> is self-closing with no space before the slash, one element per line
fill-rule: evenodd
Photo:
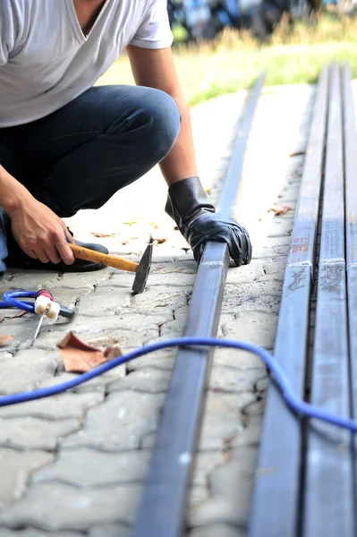
<path fill-rule="evenodd" d="M 95 346 L 89 345 L 72 332 L 69 332 L 57 346 L 64 361 L 64 371 L 85 373 L 98 367 L 101 363 L 113 360 L 121 352 L 118 348 L 109 347 L 103 353 Z"/>

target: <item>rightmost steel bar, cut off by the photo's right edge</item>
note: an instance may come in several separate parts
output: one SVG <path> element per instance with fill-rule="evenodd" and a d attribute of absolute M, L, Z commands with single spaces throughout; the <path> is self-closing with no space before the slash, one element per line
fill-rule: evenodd
<path fill-rule="evenodd" d="M 357 416 L 357 125 L 351 87 L 351 71 L 344 66 L 344 197 L 347 262 L 347 310 L 350 344 L 352 415 Z M 357 438 L 353 437 L 354 479 L 357 480 Z M 357 482 L 355 481 L 355 497 Z"/>

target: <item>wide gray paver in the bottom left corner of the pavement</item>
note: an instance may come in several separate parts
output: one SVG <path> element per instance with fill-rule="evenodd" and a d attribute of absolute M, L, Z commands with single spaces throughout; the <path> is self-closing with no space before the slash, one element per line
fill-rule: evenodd
<path fill-rule="evenodd" d="M 30 487 L 26 496 L 0 514 L 10 528 L 35 526 L 48 532 L 89 530 L 95 524 L 131 524 L 140 487 L 79 490 L 63 483 Z"/>

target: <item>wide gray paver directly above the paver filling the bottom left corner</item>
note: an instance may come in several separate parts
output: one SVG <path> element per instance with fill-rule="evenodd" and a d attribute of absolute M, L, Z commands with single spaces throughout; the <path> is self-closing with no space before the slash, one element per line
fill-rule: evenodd
<path fill-rule="evenodd" d="M 31 482 L 63 482 L 80 488 L 96 488 L 142 482 L 149 451 L 107 453 L 80 447 L 61 449 L 54 464 L 32 474 Z"/>

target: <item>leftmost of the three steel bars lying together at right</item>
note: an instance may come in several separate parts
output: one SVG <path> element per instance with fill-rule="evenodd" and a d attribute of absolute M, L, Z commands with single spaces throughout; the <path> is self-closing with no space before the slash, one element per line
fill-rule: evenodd
<path fill-rule="evenodd" d="M 304 396 L 309 306 L 327 124 L 327 68 L 323 69 L 293 236 L 285 269 L 275 358 L 294 392 Z M 290 413 L 271 382 L 251 506 L 250 537 L 295 537 L 299 520 L 302 423 Z M 318 537 L 318 535 L 315 535 Z"/>

